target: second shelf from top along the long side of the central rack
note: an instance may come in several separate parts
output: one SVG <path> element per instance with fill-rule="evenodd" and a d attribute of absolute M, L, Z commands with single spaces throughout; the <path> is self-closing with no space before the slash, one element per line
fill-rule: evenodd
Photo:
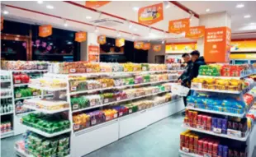
<path fill-rule="evenodd" d="M 168 81 L 177 81 L 177 80 L 178 79 L 173 79 L 173 80 L 168 80 Z M 140 84 L 134 84 L 134 85 L 120 85 L 120 86 L 112 86 L 112 87 L 99 88 L 99 89 L 93 89 L 93 90 L 73 91 L 73 92 L 70 92 L 70 95 L 92 93 L 92 92 L 102 91 L 102 90 L 122 89 L 122 88 L 126 88 L 126 87 L 139 86 L 139 85 L 151 85 L 151 84 L 157 84 L 157 83 L 164 83 L 164 82 L 168 82 L 168 81 L 154 81 L 154 82 L 140 83 Z"/>

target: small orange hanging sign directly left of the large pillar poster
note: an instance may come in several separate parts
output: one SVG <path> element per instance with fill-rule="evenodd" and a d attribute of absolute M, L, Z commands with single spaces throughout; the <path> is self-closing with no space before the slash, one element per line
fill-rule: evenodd
<path fill-rule="evenodd" d="M 198 39 L 205 35 L 205 26 L 194 26 L 187 29 L 185 38 Z"/>

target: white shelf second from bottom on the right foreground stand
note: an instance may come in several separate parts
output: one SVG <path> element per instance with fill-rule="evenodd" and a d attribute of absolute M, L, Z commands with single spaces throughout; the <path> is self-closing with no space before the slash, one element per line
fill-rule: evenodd
<path fill-rule="evenodd" d="M 201 132 L 201 133 L 206 133 L 206 134 L 213 135 L 213 136 L 225 137 L 225 138 L 233 139 L 233 140 L 236 140 L 236 141 L 247 141 L 247 139 L 249 137 L 249 133 L 250 133 L 250 132 L 248 132 L 246 134 L 246 136 L 239 138 L 239 137 L 235 137 L 235 136 L 228 136 L 226 134 L 218 134 L 218 133 L 215 133 L 215 132 L 201 130 L 201 129 L 197 129 L 195 127 L 188 127 L 184 124 L 182 124 L 182 127 L 187 128 L 187 129 L 192 130 L 192 131 L 195 131 L 195 132 Z"/>

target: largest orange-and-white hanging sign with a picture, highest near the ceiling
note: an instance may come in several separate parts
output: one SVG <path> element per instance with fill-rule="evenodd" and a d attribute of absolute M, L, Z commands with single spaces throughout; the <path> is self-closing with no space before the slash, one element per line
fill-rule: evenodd
<path fill-rule="evenodd" d="M 138 21 L 143 25 L 152 25 L 164 19 L 163 2 L 147 7 L 140 7 Z"/>

